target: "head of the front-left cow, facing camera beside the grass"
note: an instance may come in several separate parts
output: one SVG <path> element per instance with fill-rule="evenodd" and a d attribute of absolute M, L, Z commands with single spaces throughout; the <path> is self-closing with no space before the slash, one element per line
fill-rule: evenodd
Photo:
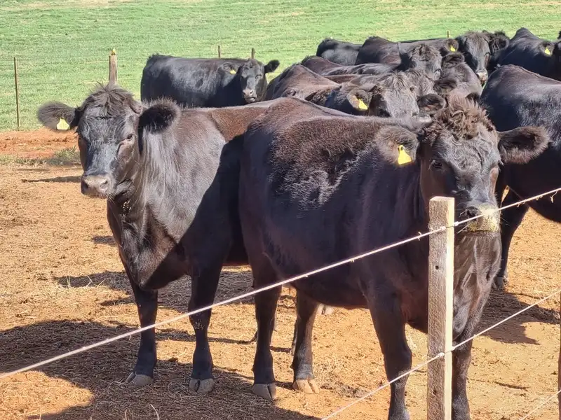
<path fill-rule="evenodd" d="M 83 168 L 81 191 L 106 198 L 116 194 L 130 163 L 142 110 L 130 92 L 104 86 L 77 108 L 50 102 L 39 108 L 37 116 L 51 130 L 76 129 Z"/>

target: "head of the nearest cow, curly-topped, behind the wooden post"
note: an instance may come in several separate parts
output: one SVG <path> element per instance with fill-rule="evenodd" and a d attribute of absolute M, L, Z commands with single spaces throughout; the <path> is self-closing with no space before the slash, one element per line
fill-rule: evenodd
<path fill-rule="evenodd" d="M 541 127 L 496 132 L 485 112 L 465 98 L 450 99 L 449 106 L 417 132 L 394 127 L 386 137 L 377 143 L 386 147 L 383 152 L 390 160 L 399 163 L 400 153 L 417 160 L 426 208 L 432 197 L 454 197 L 456 220 L 496 209 L 501 162 L 528 162 L 550 141 Z"/>

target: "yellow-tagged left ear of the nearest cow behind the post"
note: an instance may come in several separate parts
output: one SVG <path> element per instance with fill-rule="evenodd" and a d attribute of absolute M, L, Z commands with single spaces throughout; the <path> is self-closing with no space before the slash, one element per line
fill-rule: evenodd
<path fill-rule="evenodd" d="M 395 165 L 407 165 L 417 158 L 417 134 L 398 125 L 382 125 L 374 134 L 376 145 L 384 159 Z"/>

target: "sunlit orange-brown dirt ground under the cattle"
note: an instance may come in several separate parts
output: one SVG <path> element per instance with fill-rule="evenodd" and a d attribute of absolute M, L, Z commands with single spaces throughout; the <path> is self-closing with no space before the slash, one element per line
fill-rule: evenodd
<path fill-rule="evenodd" d="M 0 154 L 44 157 L 74 146 L 72 135 L 4 133 Z M 0 165 L 0 372 L 35 363 L 137 328 L 138 318 L 105 219 L 105 203 L 80 194 L 79 167 Z M 481 328 L 560 286 L 561 227 L 528 214 L 515 239 L 511 283 L 494 293 Z M 225 269 L 217 300 L 250 290 L 246 267 Z M 189 282 L 160 294 L 158 321 L 187 311 Z M 557 389 L 559 297 L 475 340 L 468 379 L 472 419 L 520 419 Z M 318 316 L 314 366 L 322 391 L 292 391 L 290 342 L 295 319 L 288 293 L 278 308 L 273 358 L 279 399 L 251 393 L 255 332 L 252 301 L 213 311 L 210 345 L 217 383 L 210 395 L 189 391 L 194 335 L 184 320 L 159 328 L 154 384 L 123 383 L 138 337 L 0 381 L 0 419 L 321 419 L 386 381 L 365 310 Z M 426 337 L 407 330 L 414 365 L 426 360 Z M 387 389 L 335 419 L 387 418 Z M 412 419 L 426 419 L 426 369 L 407 385 Z M 557 419 L 550 402 L 533 419 Z"/>

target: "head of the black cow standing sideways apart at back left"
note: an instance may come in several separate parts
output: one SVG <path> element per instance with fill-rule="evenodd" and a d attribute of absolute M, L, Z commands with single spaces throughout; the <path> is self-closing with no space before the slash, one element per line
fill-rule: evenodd
<path fill-rule="evenodd" d="M 245 103 L 252 104 L 263 99 L 267 88 L 266 73 L 275 71 L 279 64 L 276 59 L 271 59 L 267 64 L 248 59 L 238 67 L 236 78 L 239 80 Z"/>

